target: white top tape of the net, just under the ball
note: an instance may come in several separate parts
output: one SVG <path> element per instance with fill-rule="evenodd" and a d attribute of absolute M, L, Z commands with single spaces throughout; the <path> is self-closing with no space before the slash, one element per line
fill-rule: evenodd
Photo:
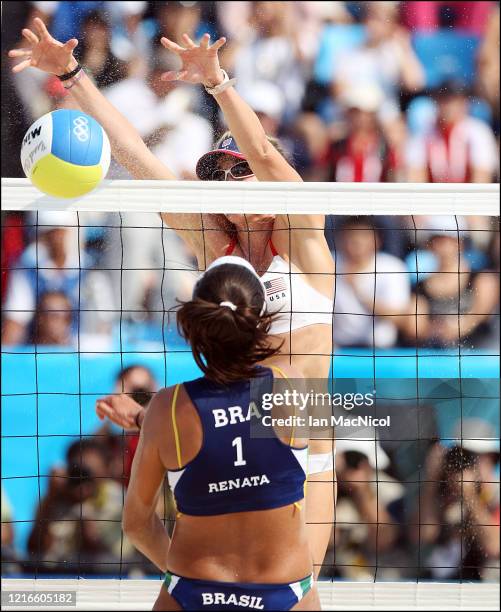
<path fill-rule="evenodd" d="M 499 185 L 104 181 L 75 200 L 42 196 L 26 179 L 2 179 L 2 210 L 498 215 Z"/>

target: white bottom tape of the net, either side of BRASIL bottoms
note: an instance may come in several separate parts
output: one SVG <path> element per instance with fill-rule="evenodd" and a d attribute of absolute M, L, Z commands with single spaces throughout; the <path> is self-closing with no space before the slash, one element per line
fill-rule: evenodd
<path fill-rule="evenodd" d="M 498 584 L 320 582 L 322 610 L 499 610 Z M 151 610 L 157 580 L 2 580 L 2 591 L 76 591 L 76 607 L 30 610 Z M 5 597 L 5 595 L 4 595 Z M 19 610 L 19 606 L 2 606 Z"/>

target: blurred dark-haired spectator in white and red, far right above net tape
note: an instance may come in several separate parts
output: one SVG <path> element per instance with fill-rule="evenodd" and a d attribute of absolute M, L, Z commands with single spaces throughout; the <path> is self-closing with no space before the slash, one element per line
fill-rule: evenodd
<path fill-rule="evenodd" d="M 408 180 L 431 183 L 489 183 L 498 169 L 491 128 L 468 115 L 468 92 L 457 82 L 435 92 L 437 117 L 430 134 L 417 135 L 407 150 Z"/>

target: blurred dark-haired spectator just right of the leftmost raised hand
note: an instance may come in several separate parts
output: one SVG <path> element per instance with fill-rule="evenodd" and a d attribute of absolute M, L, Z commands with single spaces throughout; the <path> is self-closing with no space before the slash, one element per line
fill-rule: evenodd
<path fill-rule="evenodd" d="M 76 59 L 92 76 L 97 87 L 107 87 L 126 78 L 128 65 L 111 50 L 111 28 L 103 14 L 94 10 L 82 21 L 82 41 Z"/>

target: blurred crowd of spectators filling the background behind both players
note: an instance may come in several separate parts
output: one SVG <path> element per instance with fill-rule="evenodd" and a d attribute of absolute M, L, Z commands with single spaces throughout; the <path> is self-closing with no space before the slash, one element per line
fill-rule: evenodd
<path fill-rule="evenodd" d="M 180 178 L 196 178 L 196 161 L 225 125 L 203 88 L 160 81 L 178 66 L 158 41 L 209 32 L 228 38 L 222 66 L 304 180 L 499 179 L 498 2 L 4 3 L 3 177 L 22 176 L 16 152 L 31 122 L 72 104 L 56 78 L 10 74 L 5 51 L 36 15 L 57 39 L 79 39 L 87 73 Z M 109 177 L 127 174 L 112 164 Z M 338 272 L 336 348 L 499 354 L 498 219 L 332 217 L 326 234 Z M 5 350 L 162 346 L 165 313 L 190 296 L 197 276 L 153 214 L 2 213 L 2 238 Z M 144 367 L 120 373 L 117 385 L 141 401 L 157 388 Z M 339 451 L 325 577 L 372 578 L 377 566 L 378 579 L 499 579 L 499 527 L 489 527 L 499 525 L 499 444 L 475 439 L 492 436 L 487 422 L 470 425 L 462 448 L 416 441 L 407 463 L 405 446 L 377 446 L 377 462 L 374 443 Z M 136 443 L 104 427 L 84 452 L 69 447 L 35 517 L 31 562 L 116 573 L 122 558 L 153 571 L 120 532 L 123 472 Z M 426 483 L 408 484 L 420 462 Z M 461 466 L 471 486 L 457 484 Z M 173 518 L 167 492 L 159 511 Z M 2 564 L 21 571 L 11 519 L 6 500 Z"/>

